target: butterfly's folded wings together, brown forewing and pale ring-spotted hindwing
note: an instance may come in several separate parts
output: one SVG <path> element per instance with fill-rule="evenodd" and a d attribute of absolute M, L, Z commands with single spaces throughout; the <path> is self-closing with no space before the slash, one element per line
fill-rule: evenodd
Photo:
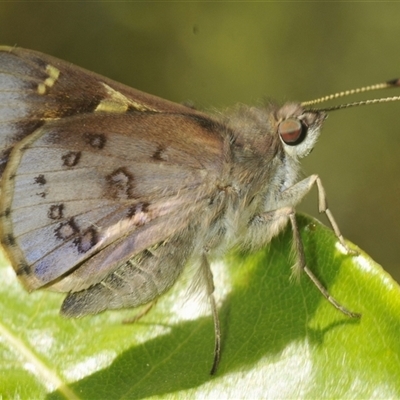
<path fill-rule="evenodd" d="M 6 50 L 0 237 L 28 290 L 85 289 L 207 207 L 228 153 L 212 119 Z"/>

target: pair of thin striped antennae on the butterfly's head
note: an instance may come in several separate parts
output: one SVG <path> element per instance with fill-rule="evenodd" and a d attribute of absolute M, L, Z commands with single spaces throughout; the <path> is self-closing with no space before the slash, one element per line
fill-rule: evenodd
<path fill-rule="evenodd" d="M 357 93 L 370 92 L 372 90 L 390 89 L 390 88 L 395 88 L 395 87 L 400 87 L 400 79 L 392 79 L 385 83 L 378 83 L 376 85 L 364 86 L 364 87 L 357 88 L 357 89 L 346 90 L 344 92 L 338 92 L 335 94 L 331 94 L 329 96 L 321 97 L 319 99 L 303 101 L 300 104 L 302 107 L 308 107 L 308 106 L 313 106 L 315 104 L 323 103 L 325 101 L 338 99 L 340 97 L 351 96 L 351 95 L 357 94 Z M 307 108 L 305 111 L 308 111 L 308 112 L 335 111 L 335 110 L 340 110 L 343 108 L 358 107 L 358 106 L 364 106 L 364 105 L 376 104 L 376 103 L 387 103 L 390 101 L 399 101 L 399 100 L 400 100 L 400 96 L 382 97 L 379 99 L 362 100 L 362 101 L 355 101 L 353 103 L 339 104 L 337 106 L 332 106 L 332 107 L 327 107 L 327 108 Z"/>

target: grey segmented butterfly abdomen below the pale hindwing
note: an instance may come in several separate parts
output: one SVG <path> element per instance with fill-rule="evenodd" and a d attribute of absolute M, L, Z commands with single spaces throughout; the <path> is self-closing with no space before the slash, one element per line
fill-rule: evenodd
<path fill-rule="evenodd" d="M 61 313 L 81 317 L 106 309 L 134 308 L 156 299 L 181 274 L 194 248 L 195 231 L 186 229 L 132 257 L 100 283 L 70 293 Z"/>

